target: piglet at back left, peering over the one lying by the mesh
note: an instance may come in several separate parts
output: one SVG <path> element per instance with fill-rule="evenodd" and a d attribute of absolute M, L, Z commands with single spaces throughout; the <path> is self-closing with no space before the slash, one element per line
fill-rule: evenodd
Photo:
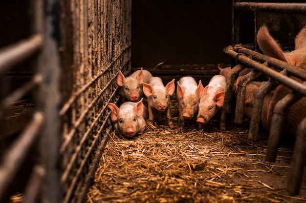
<path fill-rule="evenodd" d="M 137 70 L 131 76 L 125 78 L 121 71 L 117 76 L 117 84 L 121 87 L 120 95 L 123 102 L 138 102 L 143 98 L 142 82 L 149 82 L 152 74 L 147 71 Z"/>

